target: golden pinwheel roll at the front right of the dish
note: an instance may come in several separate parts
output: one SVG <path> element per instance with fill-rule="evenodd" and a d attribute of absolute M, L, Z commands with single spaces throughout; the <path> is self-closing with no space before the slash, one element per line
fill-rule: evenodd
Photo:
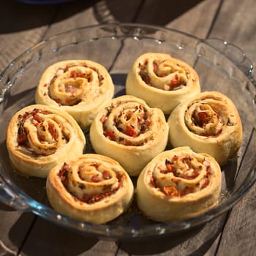
<path fill-rule="evenodd" d="M 210 155 L 189 147 L 164 151 L 140 173 L 138 208 L 159 222 L 196 217 L 217 205 L 221 180 L 219 164 Z"/>

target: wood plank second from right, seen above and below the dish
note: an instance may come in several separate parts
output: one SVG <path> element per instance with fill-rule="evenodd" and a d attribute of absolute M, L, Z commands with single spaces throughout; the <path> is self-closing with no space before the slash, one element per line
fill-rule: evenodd
<path fill-rule="evenodd" d="M 151 23 L 178 29 L 197 37 L 205 38 L 211 28 L 219 1 L 194 1 L 191 8 L 184 10 L 183 1 L 177 4 L 178 15 L 170 12 L 170 1 L 145 1 L 141 7 L 136 22 Z M 206 12 L 207 10 L 207 12 Z M 148 15 L 150 13 L 150 15 Z M 170 15 L 167 15 L 169 13 Z M 207 17 L 206 17 L 207 15 Z M 150 16 L 150 17 L 149 17 Z M 153 17 L 150 21 L 149 18 Z M 205 20 L 202 23 L 202 19 Z M 202 229 L 192 230 L 176 236 L 154 238 L 154 243 L 148 241 L 121 242 L 118 255 L 214 255 L 221 238 L 222 228 L 225 224 L 225 214 L 214 222 L 208 223 Z"/>

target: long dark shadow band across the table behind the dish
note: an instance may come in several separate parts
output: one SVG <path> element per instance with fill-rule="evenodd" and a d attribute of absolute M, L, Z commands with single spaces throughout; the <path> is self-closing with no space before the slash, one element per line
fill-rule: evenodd
<path fill-rule="evenodd" d="M 62 4 L 24 4 L 19 1 L 4 1 L 0 9 L 0 34 L 34 29 L 50 25 L 93 7 L 94 17 L 99 23 L 137 22 L 165 26 L 179 15 L 187 12 L 203 0 L 172 1 L 120 1 L 120 0 L 76 0 Z"/>

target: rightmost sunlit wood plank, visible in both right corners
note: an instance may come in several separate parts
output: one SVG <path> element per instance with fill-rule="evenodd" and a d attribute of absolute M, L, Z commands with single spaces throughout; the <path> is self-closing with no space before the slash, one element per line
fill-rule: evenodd
<path fill-rule="evenodd" d="M 256 63 L 256 7 L 253 0 L 241 3 L 225 0 L 209 37 L 219 37 L 241 48 Z M 256 186 L 233 207 L 222 234 L 217 255 L 255 255 Z"/>

